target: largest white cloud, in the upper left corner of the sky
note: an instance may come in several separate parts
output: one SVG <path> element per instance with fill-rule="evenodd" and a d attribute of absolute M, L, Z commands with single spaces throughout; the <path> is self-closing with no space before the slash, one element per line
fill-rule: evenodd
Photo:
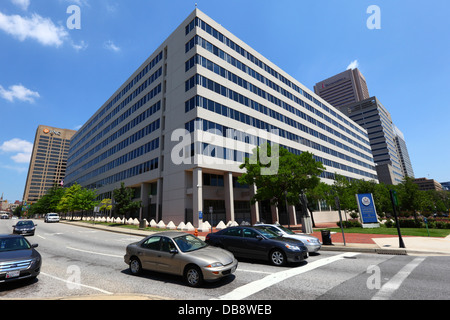
<path fill-rule="evenodd" d="M 19 15 L 8 16 L 0 12 L 0 30 L 20 41 L 31 38 L 45 46 L 55 47 L 62 45 L 69 35 L 64 27 L 57 26 L 51 19 L 36 13 L 31 18 L 26 18 Z"/>

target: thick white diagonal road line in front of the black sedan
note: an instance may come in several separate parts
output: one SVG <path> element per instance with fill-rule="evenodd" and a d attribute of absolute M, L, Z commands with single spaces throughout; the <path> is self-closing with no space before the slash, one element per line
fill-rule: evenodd
<path fill-rule="evenodd" d="M 291 277 L 298 276 L 302 273 L 306 273 L 308 271 L 323 267 L 327 264 L 342 260 L 342 259 L 344 259 L 344 257 L 354 257 L 357 255 L 359 255 L 359 253 L 344 253 L 344 254 L 333 256 L 330 258 L 325 258 L 325 259 L 321 259 L 318 261 L 314 261 L 314 262 L 308 263 L 305 266 L 273 273 L 261 280 L 250 282 L 246 285 L 243 285 L 242 287 L 239 287 L 239 288 L 237 288 L 223 296 L 220 296 L 216 299 L 213 299 L 213 300 L 242 300 L 242 299 L 245 299 L 245 298 L 251 296 L 252 294 L 255 294 L 261 290 L 264 290 L 270 286 L 273 286 L 273 285 L 275 285 L 281 281 L 284 281 L 286 279 L 289 279 Z"/>

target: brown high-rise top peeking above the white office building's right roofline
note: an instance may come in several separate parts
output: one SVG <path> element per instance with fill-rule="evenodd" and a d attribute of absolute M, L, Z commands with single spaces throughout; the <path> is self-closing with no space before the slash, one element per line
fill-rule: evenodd
<path fill-rule="evenodd" d="M 370 98 L 366 79 L 358 69 L 346 70 L 317 83 L 314 92 L 336 108 Z"/>

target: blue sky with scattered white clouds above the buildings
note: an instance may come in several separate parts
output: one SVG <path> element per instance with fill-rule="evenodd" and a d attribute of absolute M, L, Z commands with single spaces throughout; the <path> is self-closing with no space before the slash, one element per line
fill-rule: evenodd
<path fill-rule="evenodd" d="M 353 63 L 416 177 L 450 181 L 450 1 L 2 0 L 0 193 L 21 200 L 38 125 L 78 129 L 194 10 L 313 90 Z M 81 29 L 67 9 L 80 8 Z M 369 29 L 370 5 L 381 29 Z"/>

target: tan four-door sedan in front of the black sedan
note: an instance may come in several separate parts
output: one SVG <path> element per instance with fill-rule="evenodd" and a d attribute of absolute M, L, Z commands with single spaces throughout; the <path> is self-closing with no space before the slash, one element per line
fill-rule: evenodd
<path fill-rule="evenodd" d="M 238 265 L 231 252 L 178 231 L 155 233 L 128 245 L 124 260 L 133 275 L 143 269 L 180 275 L 191 287 L 229 276 Z"/>

